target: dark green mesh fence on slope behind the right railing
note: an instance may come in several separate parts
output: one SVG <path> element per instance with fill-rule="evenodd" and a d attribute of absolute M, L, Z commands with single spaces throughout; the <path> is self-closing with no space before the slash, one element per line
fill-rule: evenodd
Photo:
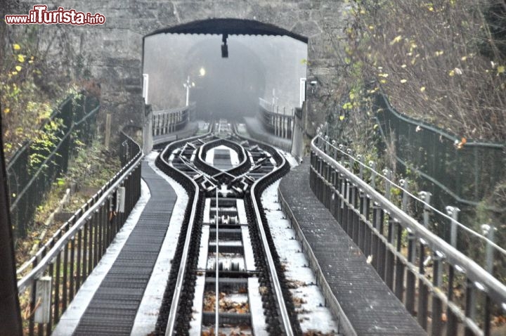
<path fill-rule="evenodd" d="M 506 178 L 504 143 L 472 141 L 397 112 L 387 96 L 375 96 L 377 122 L 386 143 L 395 143 L 397 161 L 424 179 L 441 205 L 476 206 Z"/>

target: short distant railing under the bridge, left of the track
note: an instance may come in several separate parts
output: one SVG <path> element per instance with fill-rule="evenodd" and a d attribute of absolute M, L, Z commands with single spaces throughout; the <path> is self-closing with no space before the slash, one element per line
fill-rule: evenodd
<path fill-rule="evenodd" d="M 153 136 L 181 131 L 190 122 L 194 111 L 195 103 L 173 110 L 153 111 Z"/>

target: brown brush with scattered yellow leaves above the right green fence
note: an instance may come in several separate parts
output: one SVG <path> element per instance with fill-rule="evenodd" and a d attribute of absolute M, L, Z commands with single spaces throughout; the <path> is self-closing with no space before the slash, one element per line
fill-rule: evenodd
<path fill-rule="evenodd" d="M 373 128 L 368 95 L 382 90 L 399 112 L 457 136 L 506 140 L 505 1 L 348 2 L 337 122 Z"/>

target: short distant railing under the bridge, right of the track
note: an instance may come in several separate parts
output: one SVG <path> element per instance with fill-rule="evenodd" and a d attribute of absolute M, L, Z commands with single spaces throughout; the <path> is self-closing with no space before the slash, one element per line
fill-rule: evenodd
<path fill-rule="evenodd" d="M 259 98 L 259 115 L 260 122 L 264 128 L 275 136 L 280 138 L 292 138 L 294 127 L 294 109 L 287 111 L 286 108 L 280 110 L 278 105 L 268 103 Z"/>

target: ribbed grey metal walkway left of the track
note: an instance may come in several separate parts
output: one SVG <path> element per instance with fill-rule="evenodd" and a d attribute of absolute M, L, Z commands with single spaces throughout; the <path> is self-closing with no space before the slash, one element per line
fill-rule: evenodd
<path fill-rule="evenodd" d="M 73 335 L 130 335 L 176 202 L 169 183 L 147 162 L 142 177 L 151 198 Z"/>

